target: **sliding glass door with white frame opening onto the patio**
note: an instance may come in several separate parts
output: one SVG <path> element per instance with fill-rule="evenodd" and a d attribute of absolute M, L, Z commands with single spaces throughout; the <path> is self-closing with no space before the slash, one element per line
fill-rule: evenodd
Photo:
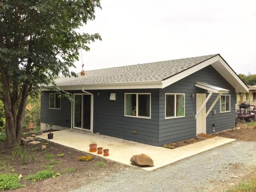
<path fill-rule="evenodd" d="M 74 128 L 91 129 L 91 96 L 87 94 L 74 94 Z"/>

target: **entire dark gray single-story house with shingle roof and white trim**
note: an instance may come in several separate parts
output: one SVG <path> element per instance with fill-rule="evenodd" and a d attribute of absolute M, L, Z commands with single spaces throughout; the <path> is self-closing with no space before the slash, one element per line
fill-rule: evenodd
<path fill-rule="evenodd" d="M 219 55 L 86 71 L 42 88 L 41 128 L 84 131 L 155 146 L 235 125 L 236 93 L 248 87 Z"/>

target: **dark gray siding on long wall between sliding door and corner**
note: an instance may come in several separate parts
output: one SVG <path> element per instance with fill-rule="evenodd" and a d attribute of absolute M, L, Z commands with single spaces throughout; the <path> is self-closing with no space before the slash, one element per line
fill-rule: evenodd
<path fill-rule="evenodd" d="M 158 145 L 158 89 L 89 90 L 94 94 L 94 132 Z M 124 93 L 151 93 L 151 119 L 124 116 Z M 116 93 L 116 101 L 110 101 Z M 137 133 L 134 134 L 133 130 Z"/>

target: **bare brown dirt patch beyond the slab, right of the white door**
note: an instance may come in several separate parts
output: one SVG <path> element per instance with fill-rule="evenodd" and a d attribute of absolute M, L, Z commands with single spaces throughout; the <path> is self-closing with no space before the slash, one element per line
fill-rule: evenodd
<path fill-rule="evenodd" d="M 228 130 L 225 132 L 216 133 L 214 135 L 226 138 L 232 138 L 240 141 L 256 142 L 256 128 L 247 124 L 238 124 L 239 130 Z"/>

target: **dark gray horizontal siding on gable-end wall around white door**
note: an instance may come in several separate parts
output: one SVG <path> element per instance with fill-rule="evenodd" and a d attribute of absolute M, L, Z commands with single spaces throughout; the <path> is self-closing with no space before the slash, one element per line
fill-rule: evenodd
<path fill-rule="evenodd" d="M 205 82 L 230 90 L 230 112 L 220 113 L 220 100 L 218 100 L 213 108 L 213 110 L 216 110 L 216 114 L 212 115 L 210 113 L 206 119 L 206 132 L 208 134 L 212 133 L 212 124 L 215 124 L 216 132 L 234 126 L 235 90 L 212 66 L 207 66 L 159 90 L 159 145 L 196 137 L 196 93 L 206 93 L 206 96 L 208 94 L 206 90 L 195 87 L 195 82 Z M 185 117 L 165 119 L 165 93 L 185 94 Z M 192 93 L 194 93 L 194 98 Z M 212 95 L 206 105 L 206 111 L 210 108 L 217 95 Z"/>

